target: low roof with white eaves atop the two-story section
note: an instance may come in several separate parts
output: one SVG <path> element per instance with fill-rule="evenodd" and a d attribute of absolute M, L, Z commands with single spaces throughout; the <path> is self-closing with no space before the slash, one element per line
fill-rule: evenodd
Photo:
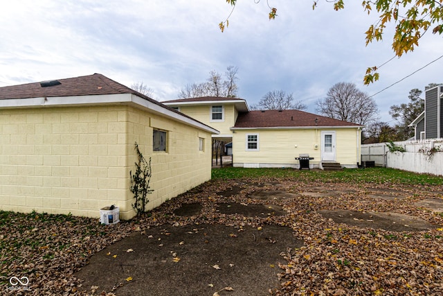
<path fill-rule="evenodd" d="M 238 112 L 248 112 L 249 107 L 243 98 L 224 98 L 221 96 L 201 96 L 198 98 L 179 98 L 178 100 L 161 102 L 168 106 L 179 107 L 183 105 L 214 105 L 234 104 Z"/>

